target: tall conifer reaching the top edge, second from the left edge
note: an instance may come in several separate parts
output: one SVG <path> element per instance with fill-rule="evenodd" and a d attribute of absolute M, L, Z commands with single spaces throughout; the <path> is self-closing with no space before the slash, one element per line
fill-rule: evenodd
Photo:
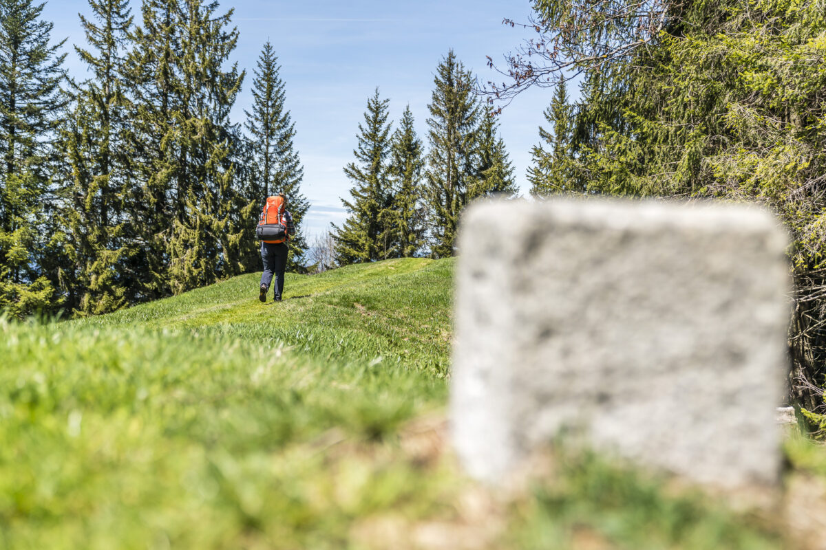
<path fill-rule="evenodd" d="M 88 44 L 77 46 L 93 74 L 76 87 L 74 109 L 64 121 L 59 150 L 67 161 L 64 204 L 59 218 L 67 240 L 66 305 L 76 313 L 107 313 L 126 303 L 121 264 L 133 241 L 124 238 L 122 196 L 126 98 L 122 82 L 126 33 L 131 26 L 126 0 L 89 0 L 93 19 L 81 15 Z"/>

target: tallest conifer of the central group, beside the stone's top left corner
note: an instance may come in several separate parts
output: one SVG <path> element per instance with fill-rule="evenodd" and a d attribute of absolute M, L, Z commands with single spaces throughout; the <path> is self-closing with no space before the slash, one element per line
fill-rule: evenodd
<path fill-rule="evenodd" d="M 430 153 L 426 178 L 430 206 L 431 251 L 453 256 L 459 214 L 468 204 L 468 186 L 475 176 L 479 102 L 473 77 L 451 49 L 436 69 L 430 101 Z"/>

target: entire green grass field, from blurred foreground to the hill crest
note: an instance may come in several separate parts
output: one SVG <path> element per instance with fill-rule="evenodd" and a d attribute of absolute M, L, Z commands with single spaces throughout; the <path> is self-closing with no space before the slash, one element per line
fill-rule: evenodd
<path fill-rule="evenodd" d="M 258 277 L 0 322 L 0 548 L 789 548 L 771 515 L 598 457 L 508 495 L 464 478 L 453 261 L 287 275 L 282 303 Z M 826 477 L 814 445 L 789 455 Z"/>

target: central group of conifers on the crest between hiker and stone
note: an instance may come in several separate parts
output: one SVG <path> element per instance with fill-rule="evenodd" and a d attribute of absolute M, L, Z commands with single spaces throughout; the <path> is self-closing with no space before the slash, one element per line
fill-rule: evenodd
<path fill-rule="evenodd" d="M 341 228 L 334 226 L 328 241 L 333 251 L 327 257 L 337 265 L 453 256 L 465 205 L 518 192 L 493 110 L 478 96 L 476 78 L 453 50 L 436 68 L 426 152 L 409 106 L 391 133 L 388 103 L 378 89 L 368 99 L 355 161 L 344 168 L 354 187 L 351 198 L 342 200 L 349 217 Z M 491 220 L 491 231 L 497 223 L 504 237 L 504 220 Z"/>

